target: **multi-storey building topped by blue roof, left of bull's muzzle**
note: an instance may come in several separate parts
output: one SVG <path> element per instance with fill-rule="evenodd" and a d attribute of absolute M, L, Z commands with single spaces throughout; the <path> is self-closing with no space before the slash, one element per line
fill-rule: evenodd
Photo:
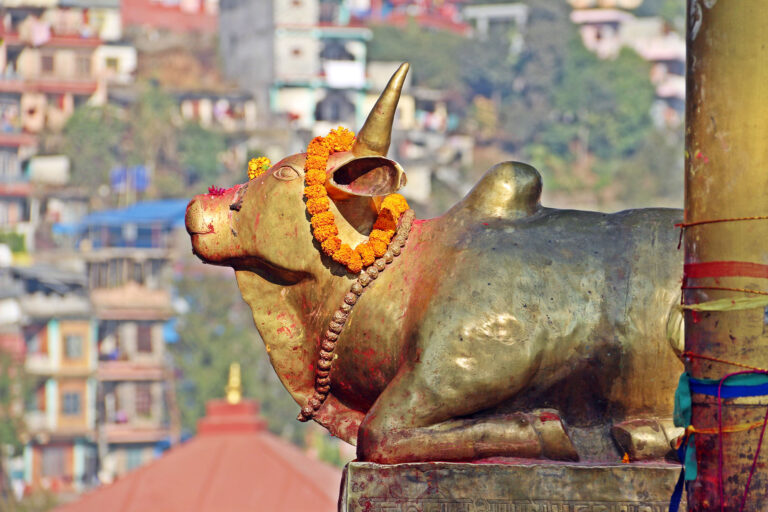
<path fill-rule="evenodd" d="M 174 315 L 174 230 L 185 200 L 95 212 L 79 224 L 81 256 L 98 320 L 98 437 L 102 476 L 152 460 L 178 436 L 165 352 Z"/>

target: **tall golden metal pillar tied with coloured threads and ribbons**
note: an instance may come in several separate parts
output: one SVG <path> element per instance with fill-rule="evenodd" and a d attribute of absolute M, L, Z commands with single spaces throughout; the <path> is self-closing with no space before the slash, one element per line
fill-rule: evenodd
<path fill-rule="evenodd" d="M 768 215 L 767 27 L 765 0 L 688 0 L 686 223 Z M 705 262 L 723 263 L 701 265 Z M 722 288 L 768 292 L 768 220 L 687 227 L 685 263 L 686 304 L 760 297 Z M 741 370 L 697 355 L 768 368 L 767 321 L 762 306 L 686 312 L 692 376 L 720 379 Z M 717 399 L 694 394 L 693 402 L 692 424 L 717 428 Z M 744 425 L 763 420 L 768 396 L 723 403 L 722 425 Z M 689 488 L 690 510 L 720 509 L 720 437 L 724 509 L 740 509 L 760 432 L 696 435 L 699 469 Z M 744 510 L 768 510 L 768 446 L 761 450 Z"/>

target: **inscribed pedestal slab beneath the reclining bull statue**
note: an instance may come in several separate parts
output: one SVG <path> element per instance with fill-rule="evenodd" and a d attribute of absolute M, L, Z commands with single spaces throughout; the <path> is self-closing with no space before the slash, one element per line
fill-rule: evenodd
<path fill-rule="evenodd" d="M 351 462 L 339 511 L 666 512 L 679 475 L 676 464 Z"/>

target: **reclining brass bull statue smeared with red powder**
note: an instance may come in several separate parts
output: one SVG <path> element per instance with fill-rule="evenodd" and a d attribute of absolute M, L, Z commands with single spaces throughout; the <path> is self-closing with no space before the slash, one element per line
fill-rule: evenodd
<path fill-rule="evenodd" d="M 408 65 L 392 77 L 326 189 L 339 237 L 366 240 L 404 183 L 385 158 Z M 321 336 L 357 276 L 314 241 L 304 154 L 195 197 L 194 253 L 231 266 L 294 400 L 313 395 Z M 397 463 L 494 457 L 661 459 L 682 363 L 677 210 L 544 208 L 541 177 L 506 162 L 445 215 L 415 221 L 338 337 L 314 419 Z M 625 455 L 626 454 L 626 455 Z"/>

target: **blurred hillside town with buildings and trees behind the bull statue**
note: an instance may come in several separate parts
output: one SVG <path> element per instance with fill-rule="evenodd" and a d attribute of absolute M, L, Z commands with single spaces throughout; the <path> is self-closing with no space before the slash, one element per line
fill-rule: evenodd
<path fill-rule="evenodd" d="M 162 456 L 233 361 L 272 432 L 352 459 L 295 422 L 231 271 L 190 254 L 189 198 L 358 129 L 408 60 L 390 157 L 419 216 L 509 159 L 548 205 L 679 206 L 683 18 L 683 0 L 2 0 L 0 510 Z"/>

